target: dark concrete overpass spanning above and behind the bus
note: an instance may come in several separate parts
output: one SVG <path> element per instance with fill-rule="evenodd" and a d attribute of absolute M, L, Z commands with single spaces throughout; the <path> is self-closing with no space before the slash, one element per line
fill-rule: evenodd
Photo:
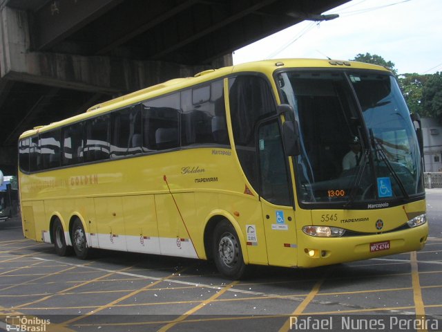
<path fill-rule="evenodd" d="M 349 0 L 0 0 L 0 169 L 26 129 L 207 68 Z"/>

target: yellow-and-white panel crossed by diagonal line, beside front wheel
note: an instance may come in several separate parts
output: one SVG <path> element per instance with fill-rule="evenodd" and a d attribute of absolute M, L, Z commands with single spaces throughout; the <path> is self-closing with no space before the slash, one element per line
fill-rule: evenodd
<path fill-rule="evenodd" d="M 198 258 L 192 242 L 194 234 L 190 232 L 187 226 L 189 222 L 192 223 L 195 219 L 195 202 L 193 197 L 193 193 L 173 194 L 173 197 L 171 194 L 155 195 L 158 234 L 160 236 L 162 255 Z M 182 221 L 173 198 L 177 201 L 177 206 L 180 208 L 186 225 Z M 186 227 L 189 230 L 190 236 Z"/>

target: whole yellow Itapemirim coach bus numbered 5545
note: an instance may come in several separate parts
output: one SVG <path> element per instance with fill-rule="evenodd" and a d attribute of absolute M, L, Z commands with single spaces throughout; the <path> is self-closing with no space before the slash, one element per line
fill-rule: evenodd
<path fill-rule="evenodd" d="M 231 279 L 255 264 L 420 250 L 419 147 L 381 66 L 283 59 L 204 71 L 23 133 L 23 233 L 81 259 L 91 248 L 213 259 Z"/>

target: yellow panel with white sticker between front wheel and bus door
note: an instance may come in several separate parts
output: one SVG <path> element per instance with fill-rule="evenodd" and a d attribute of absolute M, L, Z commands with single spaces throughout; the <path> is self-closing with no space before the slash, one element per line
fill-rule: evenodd
<path fill-rule="evenodd" d="M 250 264 L 267 265 L 267 244 L 261 203 L 254 196 L 220 194 L 220 208 L 236 216 Z M 238 216 L 239 214 L 239 216 Z M 238 234 L 241 236 L 241 234 Z"/>

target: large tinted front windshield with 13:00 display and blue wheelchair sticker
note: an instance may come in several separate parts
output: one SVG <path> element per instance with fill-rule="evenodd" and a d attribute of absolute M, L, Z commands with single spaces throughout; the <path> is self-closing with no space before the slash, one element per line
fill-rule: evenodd
<path fill-rule="evenodd" d="M 416 133 L 392 75 L 307 70 L 276 78 L 299 126 L 299 203 L 360 208 L 424 194 Z"/>

